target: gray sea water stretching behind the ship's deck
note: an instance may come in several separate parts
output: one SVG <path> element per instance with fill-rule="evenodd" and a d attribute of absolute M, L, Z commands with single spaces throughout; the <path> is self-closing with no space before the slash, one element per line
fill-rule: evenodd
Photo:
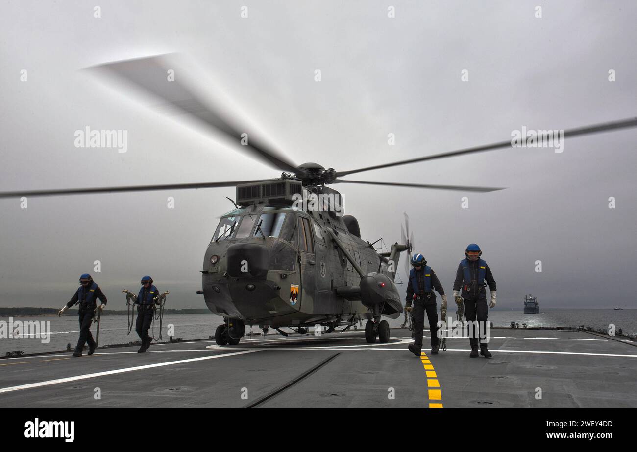
<path fill-rule="evenodd" d="M 450 303 L 448 315 L 455 320 L 455 306 Z M 635 334 L 637 332 L 637 309 L 612 310 L 612 309 L 547 309 L 538 314 L 525 314 L 521 310 L 489 310 L 489 320 L 495 327 L 508 327 L 511 322 L 517 322 L 522 327 L 579 327 L 585 325 L 593 328 L 606 329 L 609 325 L 615 325 L 616 331 L 622 329 L 624 334 Z M 47 331 L 50 331 L 48 339 L 36 337 L 8 338 L 7 334 L 2 334 L 0 338 L 0 355 L 7 352 L 22 351 L 23 353 L 42 353 L 67 350 L 68 346 L 75 347 L 80 334 L 78 316 L 64 315 L 62 317 L 13 317 L 13 328 L 15 322 L 50 322 L 41 324 Z M 400 327 L 404 321 L 403 315 L 396 319 L 390 319 L 390 327 Z M 1 325 L 9 325 L 8 317 L 0 318 Z M 210 314 L 166 314 L 162 322 L 162 340 L 168 341 L 169 334 L 174 338 L 182 338 L 184 341 L 191 339 L 206 339 L 214 336 L 217 325 L 223 323 L 222 317 Z M 427 327 L 427 320 L 425 320 Z M 364 324 L 357 325 L 362 329 Z M 4 328 L 6 330 L 6 327 Z M 91 327 L 93 336 L 96 335 L 96 326 Z M 247 332 L 259 333 L 259 327 L 246 327 Z M 151 332 L 155 339 L 159 339 L 159 321 L 155 320 L 154 331 Z M 278 334 L 273 329 L 270 334 Z M 104 315 L 101 318 L 99 329 L 99 346 L 117 345 L 138 341 L 135 332 L 128 332 L 127 315 L 113 314 Z"/>

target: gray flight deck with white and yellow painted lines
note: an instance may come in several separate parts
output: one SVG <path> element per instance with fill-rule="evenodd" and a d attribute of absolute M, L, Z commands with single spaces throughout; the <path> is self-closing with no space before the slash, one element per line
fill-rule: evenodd
<path fill-rule="evenodd" d="M 285 387 L 259 407 L 637 407 L 637 347 L 616 339 L 492 329 L 492 359 L 471 359 L 468 339 L 448 338 L 447 351 L 424 349 L 436 373 L 427 378 L 422 360 L 406 350 L 410 332 L 391 334 L 390 343 L 373 345 L 352 331 L 242 339 L 237 346 L 194 341 L 152 345 L 147 353 L 125 347 L 81 358 L 69 352 L 2 359 L 0 405 L 243 407 Z M 430 400 L 438 389 L 441 400 Z"/>

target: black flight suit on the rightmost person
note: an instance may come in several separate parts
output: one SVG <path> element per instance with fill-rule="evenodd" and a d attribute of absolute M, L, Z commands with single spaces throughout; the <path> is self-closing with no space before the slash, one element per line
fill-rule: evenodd
<path fill-rule="evenodd" d="M 469 264 L 469 274 L 471 275 L 471 281 L 464 280 L 464 270 L 462 269 L 462 262 L 458 266 L 458 270 L 455 272 L 455 282 L 454 282 L 454 291 L 459 291 L 462 289 L 462 298 L 464 299 L 464 315 L 469 322 L 475 322 L 477 319 L 478 322 L 487 322 L 487 291 L 485 290 L 485 285 L 489 286 L 489 291 L 496 291 L 496 280 L 494 280 L 493 275 L 491 273 L 491 269 L 485 263 L 485 275 L 484 280 L 485 284 L 478 285 L 472 284 L 478 280 L 478 261 L 471 261 L 467 259 Z M 482 334 L 486 331 L 485 324 L 480 324 L 480 341 L 484 341 L 485 337 Z M 471 350 L 477 350 L 478 348 L 478 332 L 469 331 L 469 343 L 471 344 Z M 480 348 L 486 348 L 487 343 L 480 343 Z"/>

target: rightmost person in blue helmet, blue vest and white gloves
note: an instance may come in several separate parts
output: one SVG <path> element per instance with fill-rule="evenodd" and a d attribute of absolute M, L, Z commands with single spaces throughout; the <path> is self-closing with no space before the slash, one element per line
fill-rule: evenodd
<path fill-rule="evenodd" d="M 471 358 L 478 356 L 478 345 L 480 345 L 480 355 L 490 358 L 491 352 L 487 350 L 488 338 L 485 336 L 487 327 L 487 291 L 485 286 L 489 286 L 491 301 L 489 308 L 496 306 L 496 281 L 491 274 L 487 263 L 480 259 L 482 250 L 475 243 L 469 243 L 464 250 L 458 270 L 455 273 L 454 299 L 458 305 L 464 302 L 464 313 L 473 327 L 469 329 L 469 343 L 471 343 Z M 462 296 L 459 291 L 462 288 Z M 478 320 L 478 331 L 476 331 L 475 320 Z"/>

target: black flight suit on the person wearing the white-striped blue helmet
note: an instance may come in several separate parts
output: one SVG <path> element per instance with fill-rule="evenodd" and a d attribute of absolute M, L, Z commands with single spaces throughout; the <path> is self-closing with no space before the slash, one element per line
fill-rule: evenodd
<path fill-rule="evenodd" d="M 424 284 L 424 266 L 420 270 L 413 269 L 417 278 L 419 278 L 419 287 L 425 287 Z M 436 276 L 436 272 L 431 269 L 431 287 L 436 289 L 440 296 L 445 294 L 440 280 Z M 431 346 L 438 345 L 438 312 L 436 311 L 436 294 L 434 291 L 415 294 L 412 284 L 407 284 L 407 298 L 405 299 L 407 306 L 412 306 L 413 316 L 413 346 L 417 350 L 422 350 L 422 329 L 425 324 L 425 311 L 427 312 L 427 318 L 429 318 L 429 329 L 431 329 Z"/>

